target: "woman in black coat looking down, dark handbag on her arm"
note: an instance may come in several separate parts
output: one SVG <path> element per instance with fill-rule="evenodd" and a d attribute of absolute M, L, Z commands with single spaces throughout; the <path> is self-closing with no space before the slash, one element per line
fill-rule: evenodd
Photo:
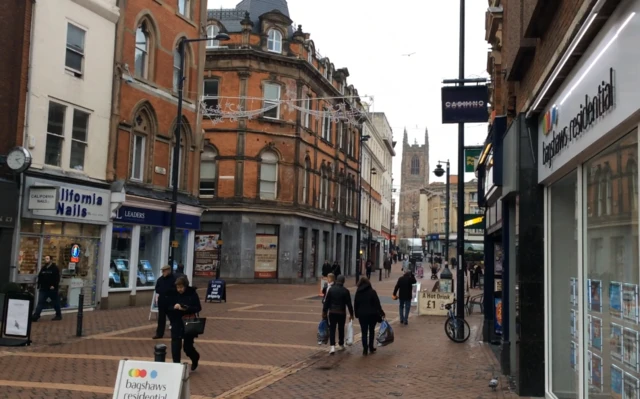
<path fill-rule="evenodd" d="M 180 352 L 184 348 L 184 353 L 191 359 L 191 370 L 198 368 L 200 354 L 195 348 L 195 336 L 187 335 L 184 331 L 184 322 L 188 319 L 196 318 L 202 310 L 200 297 L 194 287 L 189 286 L 187 276 L 180 276 L 176 279 L 176 288 L 169 296 L 169 322 L 171 323 L 171 356 L 174 363 L 180 363 Z M 184 345 L 183 345 L 184 341 Z"/>

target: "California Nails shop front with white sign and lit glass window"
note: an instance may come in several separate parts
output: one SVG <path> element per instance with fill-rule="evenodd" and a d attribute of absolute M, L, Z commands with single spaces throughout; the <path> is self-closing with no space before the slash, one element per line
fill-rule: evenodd
<path fill-rule="evenodd" d="M 77 309 L 81 293 L 84 307 L 95 307 L 102 243 L 111 214 L 110 190 L 32 176 L 24 178 L 23 187 L 13 281 L 37 295 L 38 271 L 44 257 L 50 256 L 61 274 L 62 309 Z"/>

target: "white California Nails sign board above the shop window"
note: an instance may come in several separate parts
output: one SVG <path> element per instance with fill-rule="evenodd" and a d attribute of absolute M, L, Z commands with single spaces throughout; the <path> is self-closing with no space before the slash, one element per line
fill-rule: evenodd
<path fill-rule="evenodd" d="M 111 218 L 111 191 L 35 177 L 25 178 L 30 219 L 106 224 Z"/>

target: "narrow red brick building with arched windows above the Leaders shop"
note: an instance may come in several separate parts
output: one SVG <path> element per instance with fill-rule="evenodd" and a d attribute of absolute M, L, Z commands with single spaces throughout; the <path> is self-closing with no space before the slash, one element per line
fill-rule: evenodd
<path fill-rule="evenodd" d="M 107 179 L 119 197 L 111 237 L 108 298 L 102 307 L 150 303 L 155 278 L 168 261 L 171 164 L 178 104 L 181 38 L 202 37 L 206 0 L 130 0 L 116 32 Z M 179 166 L 177 261 L 190 275 L 199 226 L 198 168 L 202 136 L 198 99 L 204 43 L 185 51 Z M 119 207 L 119 208 L 118 208 Z M 119 281 L 119 282 L 118 282 Z M 135 283 L 134 283 L 135 282 Z"/>

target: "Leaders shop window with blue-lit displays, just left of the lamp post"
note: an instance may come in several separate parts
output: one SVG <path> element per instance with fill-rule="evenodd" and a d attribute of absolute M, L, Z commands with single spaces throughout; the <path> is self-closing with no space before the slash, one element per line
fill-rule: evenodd
<path fill-rule="evenodd" d="M 162 231 L 162 227 L 140 227 L 137 287 L 155 287 L 161 274 Z"/>

